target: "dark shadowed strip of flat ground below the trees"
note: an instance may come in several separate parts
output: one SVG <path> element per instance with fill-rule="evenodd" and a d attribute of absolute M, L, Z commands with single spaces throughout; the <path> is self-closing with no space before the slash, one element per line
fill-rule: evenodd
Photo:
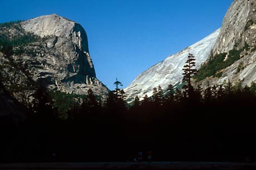
<path fill-rule="evenodd" d="M 256 163 L 234 162 L 56 162 L 56 163 L 3 163 L 0 169 L 256 169 Z"/>

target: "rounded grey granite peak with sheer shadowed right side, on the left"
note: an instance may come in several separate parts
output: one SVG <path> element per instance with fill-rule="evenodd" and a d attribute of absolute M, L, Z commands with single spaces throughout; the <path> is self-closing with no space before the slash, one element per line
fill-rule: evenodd
<path fill-rule="evenodd" d="M 98 95 L 108 92 L 96 79 L 88 39 L 80 24 L 52 14 L 28 19 L 21 25 L 26 31 L 46 39 L 42 47 L 27 47 L 35 49 L 33 57 L 40 62 L 33 79 L 67 93 L 84 94 L 88 88 Z"/>

